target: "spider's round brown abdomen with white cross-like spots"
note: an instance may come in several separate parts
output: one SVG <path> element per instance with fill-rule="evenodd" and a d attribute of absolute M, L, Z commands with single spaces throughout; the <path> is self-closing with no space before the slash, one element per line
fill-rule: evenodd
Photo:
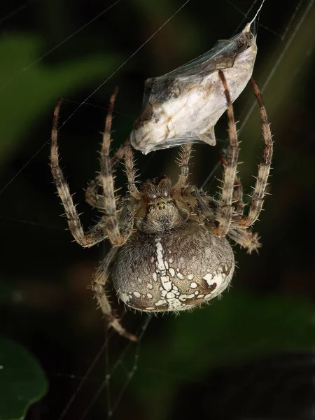
<path fill-rule="evenodd" d="M 162 235 L 138 232 L 118 251 L 113 285 L 140 311 L 181 311 L 221 295 L 234 272 L 232 248 L 197 223 Z"/>

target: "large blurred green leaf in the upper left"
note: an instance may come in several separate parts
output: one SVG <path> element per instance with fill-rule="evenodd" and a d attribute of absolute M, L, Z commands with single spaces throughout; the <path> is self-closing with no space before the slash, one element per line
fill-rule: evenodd
<path fill-rule="evenodd" d="M 41 45 L 38 38 L 15 35 L 0 42 L 0 160 L 20 147 L 20 141 L 32 124 L 51 109 L 58 97 L 95 78 L 105 79 L 117 63 L 116 57 L 89 55 L 84 59 L 45 66 L 36 61 Z"/>

